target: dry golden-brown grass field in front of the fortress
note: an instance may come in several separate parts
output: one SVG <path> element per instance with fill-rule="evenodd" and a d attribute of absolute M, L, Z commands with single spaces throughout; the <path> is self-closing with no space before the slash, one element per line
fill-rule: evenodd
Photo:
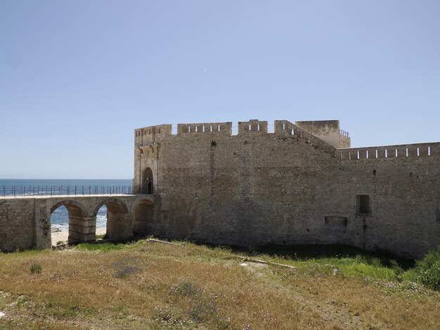
<path fill-rule="evenodd" d="M 145 239 L 0 253 L 0 329 L 440 329 L 440 293 L 408 281 L 410 264 L 309 252 Z"/>

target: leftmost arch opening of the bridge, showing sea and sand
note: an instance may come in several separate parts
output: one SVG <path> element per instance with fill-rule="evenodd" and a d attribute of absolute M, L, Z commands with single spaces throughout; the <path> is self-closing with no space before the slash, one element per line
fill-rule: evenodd
<path fill-rule="evenodd" d="M 91 225 L 81 204 L 72 200 L 58 202 L 51 206 L 51 245 L 88 242 Z"/>

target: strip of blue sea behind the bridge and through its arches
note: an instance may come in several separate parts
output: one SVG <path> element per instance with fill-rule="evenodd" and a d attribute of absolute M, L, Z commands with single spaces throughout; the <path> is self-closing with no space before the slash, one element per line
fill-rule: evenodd
<path fill-rule="evenodd" d="M 0 179 L 0 196 L 32 196 L 37 194 L 93 194 L 94 192 L 129 192 L 132 180 L 67 180 L 67 179 Z M 67 232 L 69 213 L 65 206 L 60 206 L 51 214 L 51 231 Z M 107 226 L 107 208 L 101 206 L 96 215 L 96 227 Z"/>

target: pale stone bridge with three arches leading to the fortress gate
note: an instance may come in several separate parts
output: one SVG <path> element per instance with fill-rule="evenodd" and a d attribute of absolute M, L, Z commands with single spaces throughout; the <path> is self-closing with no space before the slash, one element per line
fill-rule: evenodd
<path fill-rule="evenodd" d="M 107 207 L 107 236 L 123 240 L 148 234 L 153 194 L 0 197 L 0 250 L 51 247 L 51 214 L 59 206 L 69 213 L 68 243 L 96 240 L 96 214 Z"/>

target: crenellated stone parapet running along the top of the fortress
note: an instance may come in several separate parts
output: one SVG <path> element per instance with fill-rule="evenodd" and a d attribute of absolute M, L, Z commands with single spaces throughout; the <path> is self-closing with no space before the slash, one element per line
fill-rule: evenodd
<path fill-rule="evenodd" d="M 395 159 L 410 157 L 430 157 L 440 155 L 440 143 L 418 143 L 408 145 L 387 145 L 377 147 L 347 148 L 350 145 L 349 133 L 339 128 L 338 120 L 330 121 L 297 121 L 293 124 L 287 120 L 276 120 L 273 123 L 274 133 L 268 133 L 268 121 L 250 119 L 238 121 L 238 136 L 252 134 L 276 134 L 295 136 L 303 139 L 316 149 L 332 154 L 342 161 L 356 161 L 360 159 Z M 221 134 L 233 136 L 233 123 L 190 123 L 177 124 L 176 133 L 173 133 L 172 124 L 148 126 L 135 130 L 136 147 L 157 145 L 167 136 L 188 134 Z"/>

